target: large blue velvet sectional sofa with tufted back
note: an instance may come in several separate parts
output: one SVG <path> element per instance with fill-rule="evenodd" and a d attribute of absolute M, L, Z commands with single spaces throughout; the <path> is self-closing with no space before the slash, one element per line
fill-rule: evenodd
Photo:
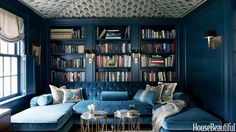
<path fill-rule="evenodd" d="M 151 84 L 156 85 L 156 84 Z M 96 104 L 96 109 L 108 112 L 108 123 L 113 124 L 113 113 L 119 109 L 128 109 L 130 104 L 141 114 L 140 124 L 152 124 L 152 112 L 161 104 L 150 105 L 133 100 L 138 89 L 145 89 L 143 82 L 86 82 L 70 83 L 67 88 L 83 88 L 85 101 L 78 103 L 64 103 L 56 105 L 37 106 L 34 97 L 31 108 L 17 113 L 11 118 L 12 131 L 69 131 L 73 124 L 80 124 L 80 115 L 87 111 L 87 105 Z M 102 91 L 127 91 L 128 99 L 122 101 L 102 101 Z M 50 97 L 51 95 L 46 95 Z M 161 131 L 191 131 L 193 123 L 221 124 L 213 115 L 196 107 L 190 97 L 182 92 L 176 92 L 174 99 L 183 99 L 189 103 L 180 113 L 170 116 L 162 123 Z M 34 106 L 34 107 L 33 107 Z"/>

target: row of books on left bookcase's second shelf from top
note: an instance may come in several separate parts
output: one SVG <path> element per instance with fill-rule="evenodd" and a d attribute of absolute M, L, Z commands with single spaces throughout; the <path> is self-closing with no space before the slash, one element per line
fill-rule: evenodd
<path fill-rule="evenodd" d="M 52 44 L 53 53 L 84 53 L 84 45 L 57 45 Z"/>

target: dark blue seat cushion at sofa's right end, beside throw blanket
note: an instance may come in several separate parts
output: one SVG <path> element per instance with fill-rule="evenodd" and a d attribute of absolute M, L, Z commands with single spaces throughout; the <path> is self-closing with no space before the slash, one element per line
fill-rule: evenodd
<path fill-rule="evenodd" d="M 220 125 L 221 120 L 198 107 L 190 107 L 176 115 L 167 117 L 163 121 L 162 127 L 167 130 L 193 130 L 193 123 Z"/>

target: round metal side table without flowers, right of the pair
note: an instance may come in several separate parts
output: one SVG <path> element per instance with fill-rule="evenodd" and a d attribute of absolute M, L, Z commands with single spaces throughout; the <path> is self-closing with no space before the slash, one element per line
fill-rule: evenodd
<path fill-rule="evenodd" d="M 125 131 L 125 125 L 128 125 L 128 131 L 140 131 L 140 113 L 136 110 L 129 110 L 121 115 L 114 112 L 114 131 Z"/>

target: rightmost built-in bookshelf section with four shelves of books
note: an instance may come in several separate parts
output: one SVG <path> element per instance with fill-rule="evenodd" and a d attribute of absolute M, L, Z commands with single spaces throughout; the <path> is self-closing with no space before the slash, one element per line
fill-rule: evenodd
<path fill-rule="evenodd" d="M 141 26 L 140 34 L 140 80 L 176 81 L 175 26 Z"/>

